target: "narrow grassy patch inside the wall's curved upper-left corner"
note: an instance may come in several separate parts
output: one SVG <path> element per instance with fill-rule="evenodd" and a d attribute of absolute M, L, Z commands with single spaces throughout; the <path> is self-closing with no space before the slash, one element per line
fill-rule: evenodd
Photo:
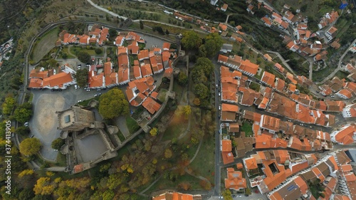
<path fill-rule="evenodd" d="M 56 41 L 58 40 L 58 31 L 59 28 L 53 28 L 51 31 L 48 31 L 45 35 L 41 38 L 38 38 L 36 42 L 36 46 L 33 48 L 32 52 L 32 60 L 37 63 L 39 62 L 43 56 L 51 51 L 56 45 Z"/>

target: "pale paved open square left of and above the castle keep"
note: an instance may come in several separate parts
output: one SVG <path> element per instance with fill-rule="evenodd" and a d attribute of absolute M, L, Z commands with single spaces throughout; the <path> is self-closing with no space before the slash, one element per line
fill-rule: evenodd
<path fill-rule="evenodd" d="M 53 140 L 56 140 L 61 134 L 61 130 L 57 130 L 56 111 L 66 110 L 75 105 L 78 100 L 93 98 L 95 94 L 105 93 L 106 91 L 108 90 L 86 92 L 82 88 L 75 90 L 74 86 L 70 86 L 62 92 L 31 90 L 33 93 L 33 117 L 30 120 L 29 127 L 31 134 L 38 138 L 43 145 L 40 153 L 44 159 L 55 162 L 58 154 L 51 147 Z"/>

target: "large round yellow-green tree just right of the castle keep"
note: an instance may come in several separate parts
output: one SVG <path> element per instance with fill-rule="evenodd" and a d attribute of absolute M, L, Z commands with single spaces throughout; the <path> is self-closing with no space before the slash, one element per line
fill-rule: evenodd
<path fill-rule="evenodd" d="M 129 113 L 129 102 L 127 102 L 124 93 L 118 88 L 113 88 L 100 96 L 99 113 L 104 119 L 112 119 L 119 115 Z"/>

